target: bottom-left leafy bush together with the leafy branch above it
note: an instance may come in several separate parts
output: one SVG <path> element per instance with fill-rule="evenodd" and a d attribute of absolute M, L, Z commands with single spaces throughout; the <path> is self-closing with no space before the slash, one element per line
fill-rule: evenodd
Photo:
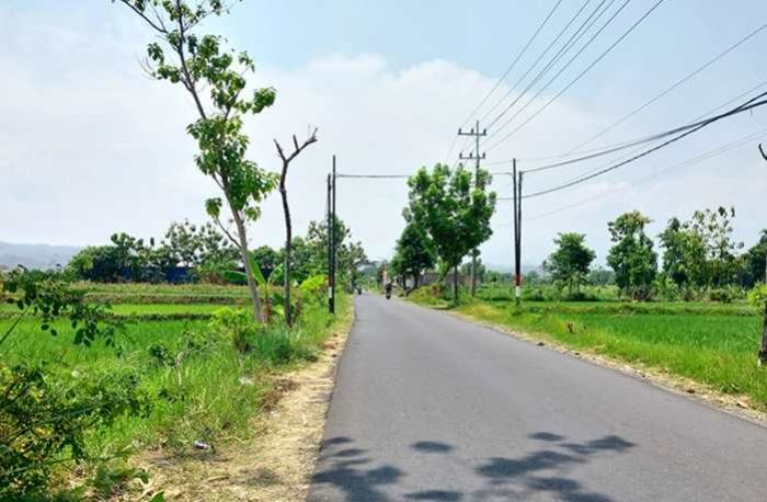
<path fill-rule="evenodd" d="M 104 309 L 88 305 L 84 292 L 48 276 L 13 271 L 2 277 L 0 290 L 18 309 L 4 328 L 0 345 L 19 329 L 24 317 L 36 318 L 39 330 L 59 334 L 56 323 L 66 317 L 76 344 L 96 339 L 114 342 L 116 324 L 104 322 Z M 2 347 L 0 347 L 2 349 Z M 0 353 L 7 360 L 7 353 Z M 0 498 L 46 493 L 54 467 L 62 461 L 90 459 L 87 435 L 124 414 L 147 407 L 131 372 L 61 379 L 42 362 L 0 364 Z"/>

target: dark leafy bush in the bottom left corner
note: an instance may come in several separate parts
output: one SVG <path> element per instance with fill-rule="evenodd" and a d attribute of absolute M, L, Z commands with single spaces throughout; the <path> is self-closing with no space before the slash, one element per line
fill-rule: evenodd
<path fill-rule="evenodd" d="M 72 381 L 34 366 L 0 366 L 0 500 L 47 493 L 62 461 L 89 459 L 88 433 L 148 409 L 130 373 Z"/>

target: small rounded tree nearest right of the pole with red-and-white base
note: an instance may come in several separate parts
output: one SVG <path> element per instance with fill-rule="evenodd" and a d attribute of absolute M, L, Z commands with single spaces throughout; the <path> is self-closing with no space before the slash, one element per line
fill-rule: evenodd
<path fill-rule="evenodd" d="M 596 253 L 586 247 L 585 240 L 583 233 L 560 233 L 554 239 L 557 251 L 543 264 L 557 283 L 568 286 L 569 296 L 572 296 L 573 287 L 580 290 L 596 258 Z"/>

